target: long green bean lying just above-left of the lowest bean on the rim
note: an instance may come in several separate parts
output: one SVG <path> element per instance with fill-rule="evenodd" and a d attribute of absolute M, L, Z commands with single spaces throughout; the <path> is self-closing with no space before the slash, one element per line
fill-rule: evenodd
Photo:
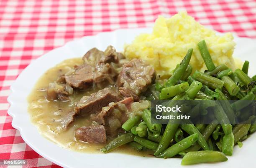
<path fill-rule="evenodd" d="M 198 139 L 197 133 L 189 135 L 187 138 L 175 143 L 171 147 L 164 150 L 163 153 L 160 153 L 157 158 L 172 158 L 173 156 L 177 155 L 179 152 L 189 148 L 193 145 Z"/>

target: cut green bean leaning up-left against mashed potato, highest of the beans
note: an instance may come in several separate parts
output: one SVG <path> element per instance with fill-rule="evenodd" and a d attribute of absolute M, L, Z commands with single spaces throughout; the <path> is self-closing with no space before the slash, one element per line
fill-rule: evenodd
<path fill-rule="evenodd" d="M 197 44 L 199 51 L 202 55 L 203 60 L 205 61 L 205 65 L 207 67 L 208 70 L 214 70 L 216 67 L 214 65 L 214 63 L 212 62 L 212 57 L 207 49 L 207 45 L 205 43 L 205 40 L 200 41 Z"/>

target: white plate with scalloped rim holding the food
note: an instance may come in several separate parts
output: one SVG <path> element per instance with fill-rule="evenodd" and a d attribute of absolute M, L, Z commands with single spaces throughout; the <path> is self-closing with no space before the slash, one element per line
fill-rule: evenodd
<path fill-rule="evenodd" d="M 10 108 L 8 114 L 13 117 L 12 125 L 20 131 L 23 140 L 44 158 L 63 167 L 184 167 L 180 165 L 181 159 L 158 159 L 125 155 L 120 153 L 90 154 L 70 151 L 59 147 L 38 133 L 35 125 L 30 122 L 27 113 L 27 96 L 38 78 L 49 68 L 62 60 L 84 55 L 87 50 L 97 47 L 105 50 L 108 45 L 113 45 L 118 51 L 123 50 L 125 43 L 131 43 L 140 33 L 150 33 L 151 28 L 120 29 L 95 36 L 86 36 L 79 40 L 68 42 L 41 56 L 28 65 L 10 87 L 12 93 L 8 97 Z M 250 61 L 250 75 L 256 73 L 256 40 L 235 37 L 237 43 L 234 53 L 241 60 Z M 242 148 L 237 146 L 232 157 L 227 162 L 214 164 L 199 164 L 186 167 L 253 167 L 256 152 L 256 134 L 244 141 Z"/>

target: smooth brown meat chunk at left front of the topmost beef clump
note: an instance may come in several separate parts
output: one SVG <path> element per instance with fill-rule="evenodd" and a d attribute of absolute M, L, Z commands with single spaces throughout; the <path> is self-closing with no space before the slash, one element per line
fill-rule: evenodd
<path fill-rule="evenodd" d="M 92 84 L 94 67 L 83 64 L 75 68 L 74 73 L 65 76 L 66 82 L 73 88 L 87 88 Z"/>

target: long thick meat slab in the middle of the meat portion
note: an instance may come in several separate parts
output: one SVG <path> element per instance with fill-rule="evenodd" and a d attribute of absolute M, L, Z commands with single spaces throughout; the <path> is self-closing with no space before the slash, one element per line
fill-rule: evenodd
<path fill-rule="evenodd" d="M 119 92 L 115 92 L 110 88 L 104 88 L 92 93 L 90 96 L 84 96 L 77 103 L 75 111 L 77 114 L 94 113 L 107 106 L 110 102 L 118 102 L 122 100 L 122 96 Z"/>

